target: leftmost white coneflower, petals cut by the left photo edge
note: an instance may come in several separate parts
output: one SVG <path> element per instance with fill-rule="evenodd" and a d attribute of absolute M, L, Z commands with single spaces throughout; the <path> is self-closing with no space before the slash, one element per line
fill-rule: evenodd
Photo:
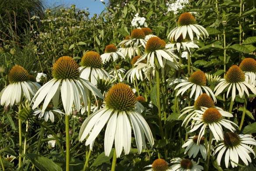
<path fill-rule="evenodd" d="M 2 106 L 20 105 L 23 96 L 30 101 L 40 86 L 29 81 L 28 71 L 20 65 L 15 65 L 10 69 L 8 81 L 10 84 L 0 92 L 0 104 Z"/>

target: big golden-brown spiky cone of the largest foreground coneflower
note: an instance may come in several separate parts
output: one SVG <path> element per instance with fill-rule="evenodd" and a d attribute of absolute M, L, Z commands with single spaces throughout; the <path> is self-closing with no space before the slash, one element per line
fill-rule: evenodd
<path fill-rule="evenodd" d="M 110 109 L 131 111 L 135 109 L 136 97 L 128 85 L 118 83 L 108 90 L 105 103 Z"/>

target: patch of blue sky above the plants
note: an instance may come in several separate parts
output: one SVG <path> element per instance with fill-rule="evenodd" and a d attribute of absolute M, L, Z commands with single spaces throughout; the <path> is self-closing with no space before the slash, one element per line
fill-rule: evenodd
<path fill-rule="evenodd" d="M 104 0 L 107 5 L 107 0 Z M 93 14 L 100 14 L 105 6 L 100 0 L 43 0 L 45 8 L 48 7 L 57 7 L 59 5 L 64 5 L 64 7 L 70 7 L 72 4 L 75 4 L 80 10 L 85 10 L 89 8 L 90 16 Z"/>

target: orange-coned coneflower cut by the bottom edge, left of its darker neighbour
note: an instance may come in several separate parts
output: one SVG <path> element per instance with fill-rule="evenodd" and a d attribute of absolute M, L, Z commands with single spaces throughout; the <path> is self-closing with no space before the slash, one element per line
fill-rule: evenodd
<path fill-rule="evenodd" d="M 172 171 L 172 169 L 169 167 L 169 164 L 161 158 L 156 159 L 152 164 L 145 166 L 144 168 L 149 167 L 151 168 L 145 171 Z"/>

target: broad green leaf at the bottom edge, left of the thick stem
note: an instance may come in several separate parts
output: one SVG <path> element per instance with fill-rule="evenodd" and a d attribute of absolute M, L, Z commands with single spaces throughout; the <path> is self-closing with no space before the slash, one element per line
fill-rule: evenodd
<path fill-rule="evenodd" d="M 40 171 L 62 171 L 62 168 L 48 159 L 38 154 L 24 154 Z"/>

